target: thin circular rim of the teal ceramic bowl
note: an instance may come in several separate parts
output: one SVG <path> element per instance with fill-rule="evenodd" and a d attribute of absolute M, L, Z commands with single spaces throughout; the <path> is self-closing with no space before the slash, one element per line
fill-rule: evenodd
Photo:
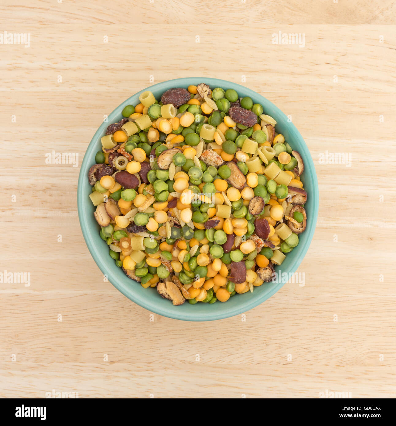
<path fill-rule="evenodd" d="M 236 305 L 235 307 L 230 307 L 229 310 L 224 311 L 224 312 L 218 312 L 218 311 L 213 311 L 210 312 L 208 314 L 205 313 L 205 316 L 202 317 L 202 313 L 200 312 L 194 312 L 194 308 L 191 308 L 191 312 L 187 313 L 183 313 L 181 311 L 178 312 L 177 310 L 177 306 L 173 306 L 171 304 L 170 308 L 173 307 L 173 309 L 164 309 L 161 308 L 160 306 L 155 306 L 153 307 L 152 304 L 150 303 L 150 296 L 144 296 L 141 297 L 139 296 L 139 294 L 134 293 L 133 291 L 133 286 L 131 287 L 130 285 L 127 285 L 126 282 L 120 282 L 116 276 L 113 274 L 113 271 L 111 270 L 107 270 L 106 268 L 104 268 L 104 266 L 101 263 L 101 254 L 99 253 L 98 249 L 95 246 L 95 243 L 92 239 L 92 235 L 89 231 L 90 227 L 87 221 L 87 214 L 84 211 L 84 201 L 83 201 L 83 196 L 82 193 L 84 191 L 84 181 L 85 179 L 87 179 L 86 176 L 86 172 L 87 172 L 87 164 L 91 164 L 92 162 L 92 158 L 88 158 L 87 155 L 85 155 L 87 153 L 87 150 L 90 148 L 91 144 L 95 145 L 98 141 L 98 138 L 100 138 L 103 135 L 104 130 L 107 128 L 107 126 L 109 125 L 109 123 L 113 123 L 115 122 L 114 120 L 116 119 L 116 116 L 119 115 L 121 113 L 122 108 L 124 108 L 124 106 L 128 105 L 129 102 L 131 101 L 132 98 L 135 98 L 136 96 L 139 97 L 139 95 L 143 92 L 145 92 L 146 90 L 161 90 L 163 89 L 163 91 L 165 92 L 165 90 L 169 89 L 170 87 L 168 87 L 171 83 L 174 83 L 176 87 L 177 86 L 186 86 L 190 85 L 190 84 L 196 84 L 195 82 L 192 82 L 192 80 L 197 80 L 197 81 L 210 81 L 209 84 L 211 86 L 213 86 L 214 84 L 217 84 L 219 87 L 224 87 L 224 85 L 226 87 L 228 87 L 229 89 L 235 89 L 238 91 L 238 89 L 240 89 L 240 91 L 243 91 L 243 93 L 245 93 L 245 96 L 250 96 L 253 99 L 260 99 L 263 98 L 266 101 L 266 104 L 269 105 L 270 107 L 272 107 L 272 109 L 276 112 L 276 116 L 277 118 L 279 116 L 283 116 L 283 118 L 287 119 L 287 116 L 284 112 L 282 112 L 275 104 L 273 104 L 271 101 L 269 101 L 267 98 L 265 98 L 263 95 L 260 95 L 260 93 L 255 92 L 253 89 L 249 89 L 246 86 L 243 86 L 241 84 L 238 83 L 233 83 L 231 81 L 227 81 L 227 80 L 222 80 L 222 79 L 218 79 L 218 78 L 203 78 L 203 77 L 185 77 L 185 78 L 175 78 L 172 80 L 166 80 L 166 81 L 162 81 L 160 83 L 156 83 L 153 84 L 133 95 L 131 95 L 128 99 L 126 99 L 125 101 L 123 101 L 118 107 L 116 107 L 108 116 L 108 120 L 107 122 L 103 122 L 98 129 L 96 130 L 95 134 L 93 135 L 90 143 L 88 144 L 88 146 L 85 149 L 85 153 L 84 153 L 84 158 L 83 161 L 81 163 L 81 167 L 80 167 L 80 172 L 79 172 L 79 176 L 78 176 L 78 187 L 77 187 L 77 208 L 78 208 L 78 219 L 80 222 L 80 227 L 81 227 L 81 231 L 83 233 L 84 236 L 84 240 L 85 243 L 87 245 L 88 250 L 90 251 L 90 254 L 92 256 L 92 258 L 94 259 L 96 265 L 98 266 L 98 268 L 101 270 L 101 272 L 104 275 L 107 275 L 108 277 L 108 281 L 111 282 L 111 284 L 117 288 L 117 290 L 119 290 L 122 294 L 124 294 L 124 296 L 126 296 L 128 299 L 130 299 L 131 301 L 133 301 L 134 303 L 136 303 L 137 305 L 141 306 L 142 308 L 147 309 L 150 312 L 162 315 L 164 317 L 168 317 L 168 318 L 173 318 L 175 320 L 184 320 L 184 321 L 214 321 L 214 320 L 222 320 L 224 318 L 229 318 L 229 317 L 233 317 L 235 315 L 238 314 L 243 314 L 246 311 L 249 311 L 252 308 L 255 308 L 256 306 L 260 305 L 261 303 L 263 303 L 265 300 L 269 299 L 271 296 L 273 296 L 277 291 L 280 290 L 280 288 L 283 287 L 284 284 L 286 284 L 286 279 L 280 279 L 280 282 L 277 282 L 277 285 L 274 286 L 274 288 L 267 292 L 267 293 L 263 293 L 262 295 L 257 296 L 257 298 L 255 299 L 251 299 L 251 300 L 247 300 L 245 302 L 241 302 L 240 304 Z M 177 82 L 177 83 L 176 83 Z M 318 209 L 319 209 L 319 190 L 318 190 L 318 176 L 316 174 L 316 170 L 315 170 L 315 164 L 313 162 L 312 159 L 312 155 L 309 152 L 308 146 L 306 145 L 304 138 L 301 136 L 300 132 L 298 131 L 298 129 L 295 127 L 295 125 L 292 122 L 288 123 L 288 126 L 291 128 L 291 130 L 293 132 L 295 132 L 297 134 L 297 136 L 301 139 L 302 143 L 305 145 L 306 147 L 306 152 L 304 153 L 304 163 L 309 163 L 311 169 L 313 170 L 312 173 L 312 190 L 311 193 L 309 194 L 309 198 L 310 201 L 313 202 L 313 215 L 310 216 L 309 218 L 309 228 L 306 230 L 307 232 L 307 236 L 304 240 L 303 245 L 301 246 L 300 244 L 298 245 L 299 247 L 299 251 L 298 251 L 298 258 L 293 262 L 293 267 L 290 268 L 290 270 L 288 270 L 288 272 L 290 271 L 290 273 L 295 273 L 295 271 L 297 271 L 298 267 L 300 266 L 302 260 L 304 259 L 306 252 L 308 251 L 308 248 L 312 242 L 312 238 L 313 235 L 315 233 L 315 228 L 316 228 L 316 222 L 318 219 Z M 86 170 L 86 171 L 84 171 Z M 89 167 L 88 167 L 89 170 Z M 118 268 L 116 265 L 114 265 L 114 268 Z M 128 280 L 130 280 L 130 278 L 128 278 Z M 135 282 L 136 284 L 140 284 L 137 283 L 134 280 L 131 280 L 132 282 Z M 133 298 L 132 298 L 133 297 Z M 154 308 L 154 309 L 153 309 Z"/>

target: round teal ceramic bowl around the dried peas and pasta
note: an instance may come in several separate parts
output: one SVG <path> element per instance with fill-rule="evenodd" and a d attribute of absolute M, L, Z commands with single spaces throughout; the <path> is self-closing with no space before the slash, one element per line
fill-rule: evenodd
<path fill-rule="evenodd" d="M 239 84 L 216 78 L 191 77 L 163 81 L 162 83 L 150 86 L 148 89 L 159 99 L 163 92 L 172 87 L 187 88 L 190 84 L 197 85 L 202 82 L 209 84 L 211 89 L 214 87 L 235 89 L 239 96 L 250 96 L 254 103 L 262 104 L 264 107 L 264 114 L 272 116 L 277 121 L 277 132 L 284 135 L 286 141 L 289 142 L 294 150 L 300 152 L 304 160 L 305 169 L 301 176 L 301 181 L 303 181 L 304 189 L 308 193 L 308 201 L 305 205 L 307 227 L 305 232 L 300 234 L 298 246 L 286 255 L 286 259 L 280 267 L 278 266 L 275 268 L 275 271 L 281 269 L 282 273 L 294 273 L 309 248 L 315 231 L 316 219 L 318 217 L 318 179 L 308 147 L 294 124 L 287 121 L 286 115 L 283 114 L 279 108 L 275 107 L 274 104 L 263 96 Z M 121 291 L 122 294 L 143 308 L 155 312 L 156 314 L 175 318 L 177 320 L 212 321 L 232 317 L 249 311 L 249 309 L 260 305 L 260 303 L 275 294 L 288 281 L 286 275 L 283 275 L 283 278 L 278 279 L 277 282 L 264 283 L 260 287 L 255 287 L 253 293 L 249 291 L 245 294 L 236 294 L 225 303 L 216 302 L 212 305 L 208 303 L 197 303 L 195 305 L 190 305 L 185 302 L 183 305 L 173 306 L 170 300 L 163 299 L 159 296 L 155 289 L 145 289 L 138 282 L 128 278 L 121 268 L 115 265 L 114 260 L 109 256 L 109 249 L 106 243 L 99 236 L 98 224 L 93 217 L 95 207 L 93 207 L 89 198 L 91 186 L 87 178 L 88 170 L 90 166 L 95 163 L 95 153 L 101 150 L 101 137 L 105 134 L 107 126 L 122 118 L 121 111 L 126 105 L 139 104 L 139 95 L 145 90 L 147 90 L 147 88 L 131 96 L 109 115 L 108 122 L 101 124 L 98 128 L 84 155 L 84 161 L 82 162 L 80 176 L 78 178 L 77 199 L 81 230 L 88 249 L 99 269 L 104 274 L 107 274 L 109 281 Z"/>

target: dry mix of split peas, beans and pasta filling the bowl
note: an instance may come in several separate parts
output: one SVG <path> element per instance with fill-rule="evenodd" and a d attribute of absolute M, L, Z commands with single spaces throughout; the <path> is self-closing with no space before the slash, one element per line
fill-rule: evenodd
<path fill-rule="evenodd" d="M 100 236 L 124 273 L 181 305 L 272 280 L 306 228 L 304 162 L 234 89 L 150 91 L 107 127 L 89 170 Z"/>

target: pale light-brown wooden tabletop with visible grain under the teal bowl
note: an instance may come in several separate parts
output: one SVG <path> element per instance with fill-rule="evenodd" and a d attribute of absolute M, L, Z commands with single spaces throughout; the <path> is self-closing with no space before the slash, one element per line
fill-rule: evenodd
<path fill-rule="evenodd" d="M 395 2 L 1 3 L 0 34 L 30 46 L 0 44 L 0 272 L 31 274 L 0 286 L 1 397 L 396 397 Z M 274 44 L 280 31 L 304 46 Z M 188 76 L 274 102 L 318 174 L 305 285 L 246 321 L 150 321 L 103 282 L 78 223 L 79 166 L 104 115 Z M 78 167 L 46 164 L 52 150 Z"/>

